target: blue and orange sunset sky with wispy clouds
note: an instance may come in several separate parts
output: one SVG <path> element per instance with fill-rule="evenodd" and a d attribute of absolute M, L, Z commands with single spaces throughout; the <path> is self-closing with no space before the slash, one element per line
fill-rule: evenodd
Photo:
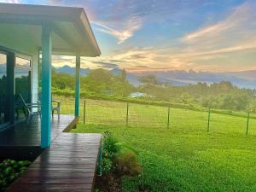
<path fill-rule="evenodd" d="M 83 7 L 102 55 L 82 67 L 128 71 L 256 69 L 255 0 L 0 0 Z M 55 56 L 56 67 L 74 58 Z"/>

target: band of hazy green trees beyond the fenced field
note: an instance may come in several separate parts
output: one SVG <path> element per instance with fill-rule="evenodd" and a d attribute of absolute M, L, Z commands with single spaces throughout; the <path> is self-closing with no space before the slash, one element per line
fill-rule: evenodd
<path fill-rule="evenodd" d="M 218 108 L 256 112 L 255 90 L 239 88 L 227 81 L 218 83 L 197 83 L 183 86 L 162 83 L 154 75 L 138 78 L 137 87 L 127 81 L 125 69 L 120 74 L 112 74 L 105 69 L 91 70 L 81 77 L 81 92 L 95 96 L 128 97 L 132 92 L 141 92 L 139 99 L 176 102 L 203 108 Z M 52 72 L 52 86 L 57 90 L 74 90 L 75 78 L 72 74 Z M 64 92 L 64 91 L 63 91 Z"/>

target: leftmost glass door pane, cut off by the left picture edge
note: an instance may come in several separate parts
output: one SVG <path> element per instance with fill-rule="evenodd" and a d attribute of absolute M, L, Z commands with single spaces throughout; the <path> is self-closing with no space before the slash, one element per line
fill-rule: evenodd
<path fill-rule="evenodd" d="M 0 130 L 10 125 L 7 54 L 0 52 Z"/>

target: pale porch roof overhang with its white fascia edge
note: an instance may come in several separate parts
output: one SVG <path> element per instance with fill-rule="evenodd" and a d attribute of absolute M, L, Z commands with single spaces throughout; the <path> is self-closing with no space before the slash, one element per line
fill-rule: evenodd
<path fill-rule="evenodd" d="M 57 55 L 99 56 L 101 51 L 82 8 L 0 3 L 0 38 L 41 48 L 42 26 L 53 29 L 52 48 Z M 23 42 L 24 43 L 24 42 Z M 29 46 L 29 45 L 28 45 Z"/>

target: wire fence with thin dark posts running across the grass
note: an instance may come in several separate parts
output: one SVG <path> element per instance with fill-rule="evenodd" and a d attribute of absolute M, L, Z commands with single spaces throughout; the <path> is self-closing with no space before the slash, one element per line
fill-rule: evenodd
<path fill-rule="evenodd" d="M 58 96 L 61 113 L 74 113 L 74 99 Z M 256 135 L 256 119 L 244 113 L 243 117 L 194 111 L 183 108 L 80 99 L 80 123 L 120 127 L 166 128 L 179 131 L 209 131 L 229 134 Z"/>

